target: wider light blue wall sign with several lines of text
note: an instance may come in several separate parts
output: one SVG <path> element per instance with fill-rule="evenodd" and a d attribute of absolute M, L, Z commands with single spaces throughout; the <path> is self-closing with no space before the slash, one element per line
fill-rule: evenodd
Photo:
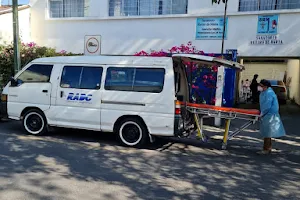
<path fill-rule="evenodd" d="M 222 40 L 224 18 L 198 18 L 196 25 L 196 40 Z M 225 36 L 227 39 L 228 18 L 225 24 Z"/>

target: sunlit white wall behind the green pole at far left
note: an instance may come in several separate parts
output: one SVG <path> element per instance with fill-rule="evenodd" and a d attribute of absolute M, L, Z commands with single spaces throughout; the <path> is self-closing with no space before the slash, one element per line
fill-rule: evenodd
<path fill-rule="evenodd" d="M 13 42 L 12 13 L 0 14 L 0 44 Z M 30 42 L 30 8 L 19 11 L 20 39 L 23 42 Z"/>

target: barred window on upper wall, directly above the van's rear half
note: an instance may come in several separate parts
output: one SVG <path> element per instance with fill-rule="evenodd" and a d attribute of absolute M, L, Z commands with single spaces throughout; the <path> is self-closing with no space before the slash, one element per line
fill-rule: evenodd
<path fill-rule="evenodd" d="M 110 0 L 109 16 L 186 14 L 188 0 Z"/>

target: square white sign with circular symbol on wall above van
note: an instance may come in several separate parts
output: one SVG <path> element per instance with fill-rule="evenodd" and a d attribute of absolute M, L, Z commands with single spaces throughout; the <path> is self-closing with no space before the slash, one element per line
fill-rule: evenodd
<path fill-rule="evenodd" d="M 87 35 L 84 37 L 84 55 L 94 56 L 101 54 L 101 36 Z"/>

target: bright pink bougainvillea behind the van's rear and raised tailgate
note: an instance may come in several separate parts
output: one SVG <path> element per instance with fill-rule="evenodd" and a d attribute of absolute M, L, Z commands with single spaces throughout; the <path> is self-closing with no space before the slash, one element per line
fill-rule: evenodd
<path fill-rule="evenodd" d="M 188 42 L 186 45 L 174 46 L 168 50 L 150 52 L 140 51 L 135 56 L 154 56 L 154 57 L 166 57 L 172 54 L 198 54 L 214 56 L 214 54 L 205 54 L 203 51 L 198 50 L 192 45 L 192 42 Z M 199 66 L 198 64 L 185 62 L 188 81 L 190 85 L 190 101 L 202 104 L 215 104 L 215 93 L 217 85 L 217 73 L 218 66 L 206 67 Z"/>

